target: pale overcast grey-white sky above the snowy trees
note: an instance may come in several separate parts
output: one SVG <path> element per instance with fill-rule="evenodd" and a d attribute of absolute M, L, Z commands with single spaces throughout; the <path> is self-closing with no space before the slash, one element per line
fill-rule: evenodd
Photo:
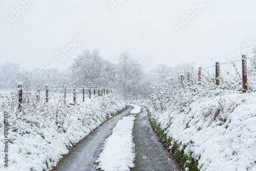
<path fill-rule="evenodd" d="M 189 61 L 207 67 L 256 45 L 255 7 L 255 0 L 2 0 L 0 63 L 62 70 L 96 48 L 114 63 L 129 51 L 147 70 Z"/>

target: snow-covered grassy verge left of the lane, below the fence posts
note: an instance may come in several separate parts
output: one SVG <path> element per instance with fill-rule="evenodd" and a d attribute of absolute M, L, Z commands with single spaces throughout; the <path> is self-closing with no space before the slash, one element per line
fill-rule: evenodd
<path fill-rule="evenodd" d="M 84 102 L 77 97 L 76 103 L 71 98 L 66 105 L 58 93 L 50 94 L 48 103 L 38 92 L 26 92 L 23 98 L 22 112 L 17 111 L 15 92 L 1 101 L 0 148 L 4 149 L 6 139 L 4 112 L 9 116 L 10 143 L 8 167 L 1 164 L 0 170 L 49 170 L 97 126 L 126 108 L 114 95 L 86 98 Z M 1 150 L 2 159 L 4 155 Z"/>

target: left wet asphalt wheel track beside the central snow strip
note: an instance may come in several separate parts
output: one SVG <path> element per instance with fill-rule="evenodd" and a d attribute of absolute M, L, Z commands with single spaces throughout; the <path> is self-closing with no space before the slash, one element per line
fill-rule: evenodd
<path fill-rule="evenodd" d="M 91 171 L 96 170 L 97 165 L 93 164 L 98 155 L 100 149 L 105 141 L 111 135 L 111 131 L 115 127 L 117 121 L 124 116 L 130 115 L 132 106 L 127 106 L 128 109 L 120 114 L 113 116 L 108 121 L 104 122 L 94 132 L 89 134 L 87 138 L 77 144 L 69 153 L 69 155 L 63 157 L 57 164 L 54 171 Z M 52 171 L 53 171 L 52 170 Z"/>

